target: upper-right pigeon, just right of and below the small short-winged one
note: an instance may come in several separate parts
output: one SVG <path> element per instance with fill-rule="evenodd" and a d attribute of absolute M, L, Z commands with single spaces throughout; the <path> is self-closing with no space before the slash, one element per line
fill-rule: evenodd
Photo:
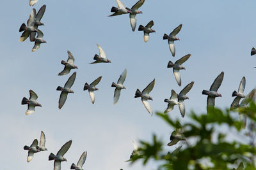
<path fill-rule="evenodd" d="M 173 29 L 173 31 L 170 33 L 169 36 L 167 34 L 164 34 L 164 36 L 163 36 L 163 39 L 168 39 L 169 48 L 171 50 L 171 53 L 172 53 L 173 57 L 175 56 L 174 41 L 180 40 L 179 38 L 176 37 L 176 35 L 180 32 L 181 27 L 182 27 L 182 24 L 180 24 L 178 27 Z"/>

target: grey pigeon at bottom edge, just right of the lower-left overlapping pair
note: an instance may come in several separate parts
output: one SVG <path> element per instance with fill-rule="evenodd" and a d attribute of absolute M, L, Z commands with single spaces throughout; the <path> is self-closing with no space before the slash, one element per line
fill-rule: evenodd
<path fill-rule="evenodd" d="M 67 159 L 65 159 L 63 156 L 65 155 L 65 153 L 70 148 L 71 143 L 72 143 L 72 140 L 70 140 L 67 143 L 65 143 L 60 148 L 60 150 L 58 151 L 57 155 L 54 155 L 53 153 L 51 153 L 49 155 L 49 159 L 48 160 L 54 160 L 54 170 L 60 170 L 61 169 L 61 162 L 67 161 Z"/>

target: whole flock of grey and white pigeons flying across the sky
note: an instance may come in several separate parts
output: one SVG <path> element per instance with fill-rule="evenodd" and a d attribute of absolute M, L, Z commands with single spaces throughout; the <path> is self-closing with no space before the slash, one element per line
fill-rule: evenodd
<path fill-rule="evenodd" d="M 30 0 L 29 4 L 34 5 L 37 1 L 38 0 Z M 109 15 L 109 17 L 113 17 L 113 16 L 117 16 L 117 15 L 124 15 L 124 14 L 129 13 L 132 31 L 135 31 L 136 22 L 137 22 L 136 15 L 139 13 L 142 13 L 142 11 L 139 11 L 138 9 L 143 5 L 144 2 L 145 2 L 145 0 L 139 0 L 136 4 L 134 4 L 134 6 L 132 6 L 132 8 L 127 8 L 124 6 L 124 4 L 120 0 L 116 0 L 116 3 L 118 4 L 118 8 L 113 6 L 111 8 L 111 12 L 113 12 L 113 14 Z M 40 20 L 42 19 L 43 15 L 45 13 L 45 9 L 46 9 L 46 5 L 43 5 L 40 8 L 40 10 L 38 11 L 38 13 L 36 13 L 35 8 L 33 8 L 31 14 L 29 15 L 27 25 L 23 23 L 19 29 L 19 31 L 22 32 L 22 35 L 20 36 L 19 41 L 25 41 L 28 37 L 29 37 L 30 41 L 35 41 L 35 45 L 32 48 L 32 52 L 35 52 L 36 50 L 38 50 L 38 48 L 40 48 L 41 43 L 46 43 L 46 41 L 44 39 L 42 39 L 44 36 L 43 32 L 38 29 L 39 25 L 44 25 L 44 23 L 42 23 Z M 153 25 L 154 25 L 154 22 L 153 22 L 153 20 L 151 20 L 150 22 L 148 22 L 148 24 L 145 27 L 143 25 L 140 25 L 138 28 L 138 31 L 144 32 L 144 41 L 146 43 L 149 40 L 149 34 L 151 32 L 156 32 L 154 29 L 152 29 Z M 170 52 L 172 53 L 173 57 L 175 57 L 174 41 L 180 40 L 179 38 L 176 37 L 176 35 L 180 32 L 181 29 L 182 29 L 182 24 L 180 24 L 178 27 L 173 29 L 173 31 L 169 35 L 164 34 L 164 36 L 163 36 L 163 39 L 168 39 L 168 45 L 169 45 Z M 37 36 L 36 36 L 36 33 L 37 33 Z M 36 38 L 35 38 L 35 36 L 36 36 Z M 93 57 L 93 59 L 95 61 L 92 62 L 91 64 L 98 64 L 101 62 L 111 63 L 111 61 L 109 59 L 107 59 L 106 53 L 101 48 L 101 46 L 100 45 L 97 45 L 97 46 L 99 48 L 99 55 L 95 54 L 95 56 Z M 74 55 L 72 55 L 72 53 L 70 51 L 68 51 L 67 53 L 68 53 L 67 62 L 65 60 L 61 60 L 61 64 L 63 64 L 65 67 L 64 67 L 63 71 L 58 73 L 59 76 L 63 76 L 63 75 L 70 73 L 70 71 L 72 69 L 77 69 L 77 66 L 74 65 L 74 61 L 75 61 Z M 255 50 L 255 48 L 252 48 L 251 55 L 255 55 L 255 54 L 256 54 L 256 50 Z M 175 80 L 177 81 L 177 84 L 179 86 L 181 86 L 180 70 L 186 69 L 184 66 L 182 66 L 182 64 L 184 64 L 184 62 L 186 62 L 186 60 L 188 60 L 190 57 L 191 57 L 191 54 L 188 54 L 188 55 L 185 55 L 184 57 L 181 57 L 174 64 L 172 61 L 168 62 L 167 67 L 173 69 L 173 74 L 175 76 Z M 118 99 L 120 98 L 121 90 L 125 89 L 124 81 L 125 81 L 126 76 L 127 76 L 127 69 L 125 69 L 122 72 L 117 83 L 113 82 L 111 85 L 111 87 L 115 88 L 114 99 L 113 99 L 114 104 L 116 104 L 118 102 Z M 94 80 L 92 83 L 90 83 L 90 85 L 88 83 L 84 84 L 83 90 L 88 90 L 92 103 L 95 103 L 94 91 L 99 90 L 96 86 L 100 83 L 101 78 L 102 77 L 100 76 L 99 78 Z M 202 94 L 207 95 L 207 111 L 209 111 L 209 108 L 215 106 L 215 98 L 221 97 L 221 94 L 218 93 L 218 89 L 221 86 L 223 78 L 224 78 L 224 72 L 221 72 L 213 81 L 210 89 L 202 91 Z M 58 103 L 59 109 L 61 109 L 63 107 L 63 105 L 65 104 L 65 101 L 67 100 L 68 93 L 74 93 L 74 91 L 71 90 L 70 88 L 74 84 L 75 80 L 76 80 L 76 72 L 72 73 L 72 75 L 68 78 L 67 82 L 65 83 L 64 87 L 61 87 L 61 86 L 57 87 L 56 90 L 61 91 L 60 99 L 59 99 L 59 103 Z M 238 90 L 234 91 L 232 93 L 232 96 L 234 96 L 235 99 L 232 102 L 230 108 L 237 109 L 239 107 L 246 107 L 248 105 L 248 103 L 250 102 L 250 100 L 252 100 L 253 97 L 255 96 L 255 91 L 256 91 L 255 89 L 252 89 L 252 91 L 249 94 L 244 95 L 245 83 L 246 83 L 246 80 L 245 80 L 245 77 L 243 77 L 239 84 Z M 137 89 L 135 92 L 135 96 L 134 96 L 135 98 L 141 97 L 142 103 L 144 104 L 148 113 L 150 113 L 151 115 L 153 114 L 153 111 L 152 111 L 152 108 L 150 107 L 150 104 L 148 103 L 148 100 L 153 100 L 152 97 L 149 96 L 149 93 L 154 88 L 154 85 L 155 85 L 155 79 L 153 81 L 151 81 L 147 85 L 147 87 L 145 87 L 145 89 L 143 89 L 142 91 Z M 167 106 L 166 110 L 164 111 L 164 113 L 168 113 L 168 112 L 172 111 L 174 106 L 178 105 L 180 114 L 182 117 L 184 117 L 185 113 L 186 113 L 184 101 L 186 99 L 189 99 L 189 97 L 186 96 L 186 94 L 188 94 L 189 90 L 192 89 L 193 85 L 194 85 L 194 81 L 191 81 L 191 83 L 186 85 L 186 87 L 184 87 L 184 89 L 182 89 L 179 94 L 177 94 L 175 92 L 175 90 L 172 90 L 172 95 L 171 95 L 170 99 L 164 99 L 164 102 L 168 103 L 168 106 Z M 37 99 L 38 99 L 38 96 L 36 95 L 35 92 L 33 92 L 33 90 L 29 90 L 29 99 L 27 99 L 26 97 L 23 97 L 21 104 L 28 104 L 28 110 L 26 111 L 26 115 L 31 115 L 32 113 L 34 113 L 35 106 L 42 107 L 42 105 L 36 101 Z M 243 99 L 243 100 L 240 103 L 241 99 Z M 240 114 L 240 117 L 244 123 L 244 128 L 245 128 L 246 127 L 246 117 L 244 117 L 243 114 Z M 181 125 L 179 128 L 177 128 L 175 131 L 172 132 L 172 135 L 170 137 L 170 143 L 168 143 L 168 146 L 175 145 L 180 140 L 185 140 L 184 136 L 182 136 Z M 61 149 L 59 150 L 59 152 L 56 155 L 54 155 L 53 153 L 51 153 L 49 155 L 49 160 L 54 160 L 54 170 L 60 170 L 61 162 L 67 161 L 67 159 L 65 159 L 63 157 L 63 155 L 68 151 L 68 149 L 71 146 L 71 143 L 72 143 L 71 140 L 68 141 L 67 143 L 65 143 L 65 145 L 63 145 L 61 147 Z M 39 146 L 38 146 L 38 140 L 35 139 L 33 141 L 33 143 L 31 144 L 31 146 L 24 146 L 24 150 L 28 150 L 28 158 L 27 158 L 28 162 L 31 161 L 34 153 L 47 150 L 47 148 L 45 148 L 44 132 L 41 132 Z M 132 152 L 132 154 L 135 154 L 135 153 L 139 154 L 139 152 L 137 150 L 138 150 L 138 146 L 134 143 L 134 152 Z M 86 155 L 87 155 L 87 153 L 83 152 L 79 161 L 77 162 L 77 165 L 72 164 L 70 169 L 82 170 L 82 166 L 86 160 Z"/>

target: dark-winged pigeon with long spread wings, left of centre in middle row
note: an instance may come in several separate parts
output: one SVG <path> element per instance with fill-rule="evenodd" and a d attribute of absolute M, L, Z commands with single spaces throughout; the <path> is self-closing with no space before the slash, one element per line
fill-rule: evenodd
<path fill-rule="evenodd" d="M 58 86 L 56 90 L 61 91 L 60 99 L 59 99 L 59 109 L 65 104 L 67 99 L 68 93 L 74 93 L 73 90 L 70 88 L 72 87 L 74 81 L 76 79 L 76 72 L 74 72 L 69 78 L 68 81 L 65 83 L 64 87 Z"/>

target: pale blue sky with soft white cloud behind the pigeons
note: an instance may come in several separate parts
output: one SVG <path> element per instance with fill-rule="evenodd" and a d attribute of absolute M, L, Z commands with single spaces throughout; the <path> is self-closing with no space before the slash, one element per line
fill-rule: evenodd
<path fill-rule="evenodd" d="M 122 2 L 131 7 L 137 1 Z M 43 4 L 46 10 L 41 21 L 45 25 L 38 29 L 44 32 L 47 43 L 31 52 L 34 44 L 29 39 L 19 42 L 19 27 L 27 22 L 32 8 L 38 11 Z M 156 169 L 154 162 L 145 167 L 141 166 L 142 162 L 132 166 L 125 162 L 133 150 L 132 140 L 151 141 L 152 134 L 157 134 L 167 144 L 173 131 L 155 113 L 150 117 L 141 99 L 134 99 L 136 89 L 143 90 L 156 78 L 150 92 L 154 100 L 149 103 L 154 112 L 164 111 L 167 106 L 164 99 L 170 97 L 172 89 L 179 93 L 195 81 L 188 93 L 189 100 L 185 101 L 185 118 L 180 117 L 178 106 L 168 113 L 182 123 L 189 121 L 191 110 L 205 114 L 207 96 L 202 95 L 202 90 L 209 90 L 221 71 L 225 75 L 218 92 L 223 97 L 216 98 L 216 107 L 230 106 L 234 99 L 232 92 L 238 89 L 243 76 L 246 77 L 244 93 L 255 88 L 256 59 L 250 56 L 256 45 L 255 1 L 145 0 L 140 8 L 143 14 L 137 15 L 135 32 L 131 30 L 129 15 L 108 17 L 112 6 L 116 6 L 115 0 L 38 0 L 33 7 L 29 6 L 29 0 L 1 3 L 2 169 L 52 169 L 49 154 L 56 154 L 70 139 L 73 142 L 65 154 L 68 161 L 61 163 L 61 169 L 70 169 L 84 151 L 88 152 L 84 169 Z M 147 25 L 150 20 L 154 20 L 152 29 L 156 33 L 150 34 L 145 43 L 138 26 Z M 163 34 L 170 34 L 179 24 L 182 24 L 177 34 L 180 41 L 175 41 L 176 55 L 172 57 Z M 99 53 L 97 43 L 111 64 L 89 64 L 95 53 Z M 58 76 L 63 69 L 61 60 L 67 60 L 67 50 L 73 53 L 78 69 Z M 186 70 L 180 71 L 182 86 L 179 87 L 167 64 L 188 53 L 191 57 L 182 64 Z M 111 83 L 118 80 L 125 68 L 127 89 L 122 90 L 118 103 L 113 105 Z M 63 86 L 74 71 L 77 72 L 72 86 L 74 94 L 68 94 L 59 110 L 60 92 L 56 87 Z M 102 80 L 92 104 L 83 86 L 99 76 Z M 27 106 L 20 103 L 23 97 L 29 97 L 30 89 L 38 95 L 42 108 L 36 107 L 33 115 L 25 115 Z M 39 140 L 41 131 L 45 133 L 48 151 L 35 153 L 28 163 L 28 152 L 23 146 L 31 145 L 33 139 Z M 164 149 L 172 151 L 175 146 L 164 146 Z"/>

